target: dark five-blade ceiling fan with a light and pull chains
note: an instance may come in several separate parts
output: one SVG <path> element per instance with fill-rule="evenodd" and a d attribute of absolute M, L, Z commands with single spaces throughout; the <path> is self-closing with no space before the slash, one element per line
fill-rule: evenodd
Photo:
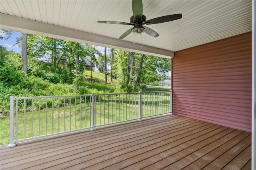
<path fill-rule="evenodd" d="M 118 22 L 118 21 L 98 21 L 98 23 L 110 23 L 110 24 L 134 26 L 133 28 L 130 28 L 128 29 L 128 31 L 123 33 L 123 35 L 121 35 L 119 39 L 123 39 L 124 37 L 126 37 L 132 32 L 134 32 L 135 34 L 142 34 L 143 32 L 145 32 L 148 35 L 151 35 L 152 37 L 158 37 L 159 34 L 156 31 L 146 26 L 143 27 L 143 25 L 163 23 L 163 22 L 178 20 L 182 18 L 182 14 L 173 14 L 173 15 L 154 18 L 151 20 L 146 20 L 146 16 L 142 15 L 142 12 L 143 12 L 142 0 L 132 0 L 132 12 L 133 12 L 133 16 L 130 18 L 130 23 Z"/>

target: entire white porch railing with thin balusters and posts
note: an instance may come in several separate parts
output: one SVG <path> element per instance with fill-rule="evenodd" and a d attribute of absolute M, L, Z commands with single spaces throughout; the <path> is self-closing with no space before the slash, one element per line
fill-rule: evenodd
<path fill-rule="evenodd" d="M 172 91 L 10 96 L 10 144 L 144 117 L 172 114 Z"/>

